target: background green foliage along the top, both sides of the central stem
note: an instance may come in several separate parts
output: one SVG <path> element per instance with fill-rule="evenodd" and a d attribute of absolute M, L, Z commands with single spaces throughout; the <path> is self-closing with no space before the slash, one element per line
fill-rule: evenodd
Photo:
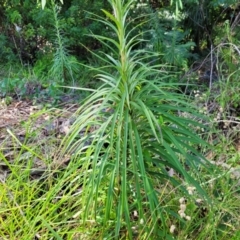
<path fill-rule="evenodd" d="M 91 32 L 114 37 L 110 29 L 103 28 L 89 14 L 94 12 L 103 16 L 101 9 L 108 10 L 109 3 L 57 1 L 54 3 L 55 9 L 51 1 L 46 5 L 41 3 L 29 0 L 4 1 L 0 26 L 0 46 L 4 50 L 0 53 L 1 59 L 20 60 L 22 65 L 34 65 L 43 55 L 54 52 L 56 55 L 53 56 L 52 72 L 57 80 L 53 81 L 68 79 L 73 82 L 74 71 L 71 68 L 77 69 L 77 65 L 72 63 L 75 66 L 70 66 L 72 59 L 68 55 L 80 61 L 89 61 L 91 56 L 88 50 L 107 51 L 104 44 L 89 37 Z M 237 1 L 135 1 L 129 16 L 133 19 L 133 28 L 138 26 L 138 32 L 133 30 L 131 36 L 141 33 L 145 40 L 135 45 L 135 50 L 157 51 L 163 57 L 156 61 L 186 70 L 189 63 L 196 59 L 197 55 L 192 54 L 193 49 L 195 53 L 201 54 L 215 43 L 218 26 L 221 28 L 226 20 L 230 26 L 234 23 Z M 16 31 L 16 26 L 21 28 L 20 32 Z"/>

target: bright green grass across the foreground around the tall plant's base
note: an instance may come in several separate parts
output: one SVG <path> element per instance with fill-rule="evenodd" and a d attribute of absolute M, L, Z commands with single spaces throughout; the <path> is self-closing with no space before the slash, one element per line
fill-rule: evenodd
<path fill-rule="evenodd" d="M 112 239 L 115 237 L 113 227 L 117 203 L 111 212 L 112 221 L 109 221 L 107 226 L 109 231 L 103 225 L 105 222 L 104 207 L 98 209 L 97 212 L 103 214 L 98 214 L 96 218 L 89 216 L 84 224 L 82 201 L 84 199 L 83 177 L 86 172 L 85 169 L 79 168 L 81 160 L 72 159 L 68 166 L 63 167 L 62 163 L 68 160 L 69 156 L 58 155 L 60 148 L 56 148 L 56 145 L 59 144 L 59 138 L 54 136 L 55 131 L 48 136 L 42 135 L 41 130 L 49 124 L 51 126 L 55 121 L 55 110 L 58 112 L 57 116 L 64 118 L 59 109 L 42 110 L 32 114 L 27 121 L 21 123 L 24 130 L 20 132 L 21 134 L 24 132 L 25 137 L 18 135 L 19 126 L 15 126 L 12 131 L 8 130 L 4 139 L 1 139 L 0 236 L 6 239 L 40 237 L 69 240 Z M 42 116 L 45 118 L 40 124 L 39 119 L 42 119 Z M 222 147 L 225 146 L 226 144 L 223 143 Z M 91 154 L 90 150 L 88 153 Z M 221 153 L 219 149 L 219 159 L 222 157 Z M 237 166 L 238 159 L 236 159 Z M 108 163 L 110 164 L 106 161 L 106 164 Z M 7 170 L 4 171 L 6 168 Z M 90 166 L 87 171 L 91 175 Z M 166 237 L 156 236 L 152 231 L 156 225 L 151 217 L 145 223 L 138 221 L 137 207 L 133 206 L 134 211 L 130 214 L 134 225 L 134 237 L 140 240 L 156 238 L 237 240 L 240 227 L 238 180 L 232 178 L 232 172 L 229 169 L 221 167 L 217 167 L 211 173 L 199 168 L 198 175 L 201 175 L 202 186 L 213 200 L 212 207 L 207 205 L 196 191 L 193 191 L 193 195 L 186 195 L 179 189 L 172 188 L 168 182 L 165 184 L 164 181 L 157 181 L 153 178 L 163 210 L 162 222 L 165 223 Z M 99 204 L 105 203 L 109 184 L 110 181 L 104 181 L 99 187 Z M 130 187 L 133 191 L 134 188 Z M 147 196 L 144 197 L 147 198 Z M 132 194 L 129 194 L 129 203 L 131 202 L 138 203 L 136 195 L 132 197 Z M 144 203 L 146 215 L 148 215 L 147 202 Z M 189 217 L 188 220 L 180 218 L 177 213 L 183 207 Z M 162 222 L 157 222 L 159 234 L 161 234 Z M 172 226 L 175 226 L 174 231 L 171 231 Z M 129 239 L 125 229 L 126 226 L 123 223 L 120 236 L 115 238 Z"/>

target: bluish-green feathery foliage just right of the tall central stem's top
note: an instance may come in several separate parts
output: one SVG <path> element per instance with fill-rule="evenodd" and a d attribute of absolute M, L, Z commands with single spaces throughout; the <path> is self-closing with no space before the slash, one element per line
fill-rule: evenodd
<path fill-rule="evenodd" d="M 156 61 L 186 70 L 188 60 L 196 58 L 191 53 L 195 44 L 187 38 L 188 30 L 181 25 L 183 14 L 179 13 L 179 4 L 177 1 L 174 6 L 154 9 L 150 3 L 136 3 L 130 16 L 134 19 L 133 26 L 138 26 L 138 32 L 131 34 L 141 33 L 144 41 L 138 48 L 162 55 L 156 57 Z"/>

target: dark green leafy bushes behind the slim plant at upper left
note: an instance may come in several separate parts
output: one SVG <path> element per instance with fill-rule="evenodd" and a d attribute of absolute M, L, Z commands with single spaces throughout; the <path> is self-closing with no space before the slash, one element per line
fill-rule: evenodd
<path fill-rule="evenodd" d="M 65 45 L 76 58 L 88 57 L 82 44 L 91 49 L 100 47 L 96 46 L 96 41 L 91 40 L 87 34 L 91 31 L 101 32 L 104 29 L 88 19 L 86 11 L 101 13 L 100 9 L 105 8 L 106 4 L 105 1 L 89 4 L 85 0 L 55 3 L 55 7 L 58 8 L 60 33 L 62 35 L 64 32 L 67 43 Z M 20 55 L 22 63 L 33 64 L 42 54 L 49 54 L 55 50 L 55 47 L 59 47 L 55 45 L 56 13 L 52 11 L 51 1 L 47 2 L 44 10 L 34 1 L 8 1 L 2 4 L 1 13 L 1 32 L 14 52 L 15 60 L 19 60 Z M 17 32 L 15 26 L 20 27 L 21 31 Z M 5 42 L 2 44 L 5 45 Z M 8 52 L 4 51 L 3 54 L 4 58 L 8 57 Z"/>

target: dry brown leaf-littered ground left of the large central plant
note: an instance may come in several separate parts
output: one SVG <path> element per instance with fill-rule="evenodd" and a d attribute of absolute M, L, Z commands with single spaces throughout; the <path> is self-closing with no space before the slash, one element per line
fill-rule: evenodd
<path fill-rule="evenodd" d="M 31 100 L 12 99 L 9 104 L 2 101 L 0 148 L 8 163 L 0 162 L 0 179 L 8 176 L 10 173 L 8 164 L 14 163 L 17 154 L 22 155 L 20 159 L 22 162 L 28 160 L 30 153 L 22 152 L 23 145 L 33 152 L 36 147 L 42 148 L 41 157 L 34 157 L 31 175 L 44 172 L 47 165 L 41 159 L 51 158 L 54 162 L 59 144 L 68 133 L 78 106 L 79 104 L 71 101 L 48 108 L 34 104 Z"/>

